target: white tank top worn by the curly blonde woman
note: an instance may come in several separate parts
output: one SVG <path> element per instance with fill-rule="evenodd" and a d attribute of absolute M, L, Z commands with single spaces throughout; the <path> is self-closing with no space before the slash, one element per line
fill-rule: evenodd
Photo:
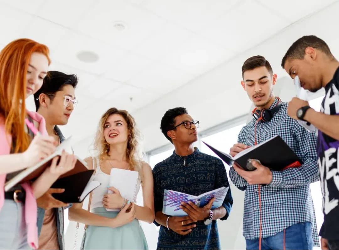
<path fill-rule="evenodd" d="M 94 164 L 96 164 L 96 170 L 94 171 L 95 174 L 92 175 L 91 180 L 98 181 L 101 183 L 101 185 L 94 189 L 92 192 L 91 210 L 96 207 L 103 207 L 102 198 L 104 194 L 107 193 L 107 186 L 109 184 L 109 174 L 106 174 L 101 171 L 99 159 L 97 157 L 95 158 L 93 157 L 92 159 L 93 159 L 93 168 L 95 169 Z M 139 190 L 140 190 L 140 178 L 138 178 L 136 193 L 138 193 Z M 133 202 L 136 203 L 136 198 Z"/>

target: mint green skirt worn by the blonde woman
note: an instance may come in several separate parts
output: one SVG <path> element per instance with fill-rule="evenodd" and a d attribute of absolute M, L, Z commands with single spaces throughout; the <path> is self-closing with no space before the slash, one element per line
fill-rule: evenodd
<path fill-rule="evenodd" d="M 114 218 L 118 212 L 107 212 L 105 208 L 94 208 L 93 213 Z M 83 249 L 148 249 L 145 234 L 138 220 L 117 228 L 88 226 Z"/>

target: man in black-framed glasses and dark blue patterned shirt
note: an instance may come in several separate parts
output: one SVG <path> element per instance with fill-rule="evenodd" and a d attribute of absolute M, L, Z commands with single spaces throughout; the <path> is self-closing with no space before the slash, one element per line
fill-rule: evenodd
<path fill-rule="evenodd" d="M 211 210 L 214 199 L 205 207 L 182 203 L 187 216 L 162 213 L 164 190 L 200 195 L 229 187 L 226 170 L 218 158 L 193 146 L 198 140 L 199 121 L 185 108 L 167 110 L 160 129 L 174 145 L 173 154 L 153 169 L 155 224 L 160 226 L 157 249 L 220 249 L 217 219 L 226 220 L 233 198 L 229 189 L 221 207 Z"/>

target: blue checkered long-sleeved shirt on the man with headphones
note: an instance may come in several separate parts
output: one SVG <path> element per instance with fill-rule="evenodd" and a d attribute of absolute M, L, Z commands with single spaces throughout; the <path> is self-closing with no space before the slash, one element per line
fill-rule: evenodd
<path fill-rule="evenodd" d="M 276 99 L 270 109 L 278 100 Z M 301 222 L 312 223 L 314 246 L 319 246 L 314 206 L 310 184 L 319 180 L 316 151 L 316 133 L 308 132 L 296 120 L 287 115 L 287 103 L 282 103 L 272 120 L 257 123 L 257 143 L 279 135 L 303 161 L 298 168 L 272 171 L 272 182 L 261 186 L 262 238 L 272 236 L 285 228 Z M 255 123 L 252 119 L 244 126 L 238 142 L 254 146 Z M 260 214 L 258 185 L 249 185 L 233 167 L 230 179 L 245 191 L 243 235 L 246 239 L 259 238 Z"/>

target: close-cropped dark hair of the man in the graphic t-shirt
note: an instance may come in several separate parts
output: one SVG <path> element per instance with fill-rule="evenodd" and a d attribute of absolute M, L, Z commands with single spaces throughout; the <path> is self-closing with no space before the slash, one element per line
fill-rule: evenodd
<path fill-rule="evenodd" d="M 328 47 L 327 43 L 324 40 L 320 39 L 316 36 L 303 36 L 295 41 L 291 47 L 287 50 L 285 56 L 282 58 L 281 67 L 284 68 L 287 60 L 290 59 L 304 59 L 305 49 L 307 47 L 312 47 L 319 49 L 327 56 L 330 56 L 334 59 L 333 54 L 331 53 L 330 47 Z"/>

